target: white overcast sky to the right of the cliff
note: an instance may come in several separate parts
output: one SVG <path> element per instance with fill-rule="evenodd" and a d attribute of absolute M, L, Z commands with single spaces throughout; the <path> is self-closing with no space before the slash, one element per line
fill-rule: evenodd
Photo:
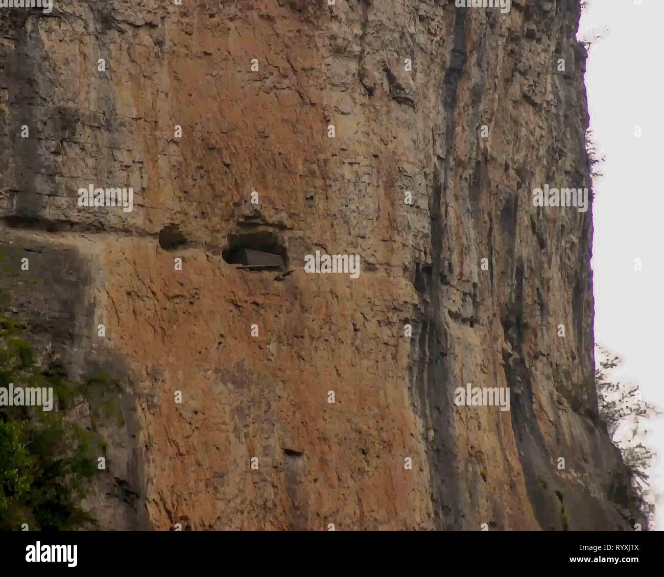
<path fill-rule="evenodd" d="M 595 337 L 625 359 L 620 380 L 639 384 L 645 400 L 664 408 L 663 23 L 664 0 L 590 0 L 579 33 L 610 29 L 590 48 L 586 72 L 590 123 L 606 155 L 594 203 Z M 647 428 L 649 446 L 664 453 L 664 419 Z M 652 482 L 663 494 L 661 455 Z M 662 501 L 652 529 L 664 528 Z"/>

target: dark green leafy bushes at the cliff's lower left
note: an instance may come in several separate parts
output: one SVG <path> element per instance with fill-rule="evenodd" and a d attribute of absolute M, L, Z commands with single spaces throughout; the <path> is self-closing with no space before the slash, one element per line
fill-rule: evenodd
<path fill-rule="evenodd" d="M 75 384 L 60 367 L 43 369 L 21 331 L 0 317 L 0 387 L 52 387 L 53 407 L 0 406 L 0 530 L 71 530 L 92 522 L 80 502 L 98 472 L 103 441 L 70 418 L 103 377 Z"/>

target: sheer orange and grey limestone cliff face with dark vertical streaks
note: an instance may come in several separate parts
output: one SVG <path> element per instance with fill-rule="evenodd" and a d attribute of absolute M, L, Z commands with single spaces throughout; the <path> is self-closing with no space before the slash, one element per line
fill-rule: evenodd
<path fill-rule="evenodd" d="M 532 202 L 590 188 L 579 12 L 3 11 L 7 309 L 44 362 L 125 384 L 102 527 L 629 529 L 590 382 L 592 210 Z M 133 210 L 78 206 L 90 185 Z M 293 272 L 238 270 L 233 245 Z M 359 278 L 306 274 L 316 250 L 359 254 Z M 466 383 L 511 410 L 456 406 Z"/>

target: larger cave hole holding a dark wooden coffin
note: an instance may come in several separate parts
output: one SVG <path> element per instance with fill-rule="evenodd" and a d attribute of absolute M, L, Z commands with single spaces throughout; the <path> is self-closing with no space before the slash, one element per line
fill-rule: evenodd
<path fill-rule="evenodd" d="M 228 264 L 245 270 L 284 271 L 288 266 L 286 248 L 270 231 L 230 234 L 221 256 Z"/>

